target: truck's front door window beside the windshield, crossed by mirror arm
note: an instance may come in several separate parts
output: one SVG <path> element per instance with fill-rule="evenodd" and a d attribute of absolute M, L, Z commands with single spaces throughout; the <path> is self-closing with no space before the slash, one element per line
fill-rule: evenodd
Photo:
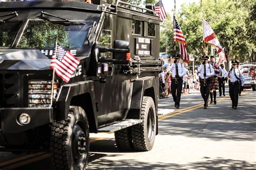
<path fill-rule="evenodd" d="M 102 34 L 100 34 L 99 46 L 111 48 L 111 42 L 112 42 L 111 37 L 112 37 L 112 32 L 110 30 L 103 30 Z M 102 55 L 110 57 L 111 53 L 106 52 Z"/>

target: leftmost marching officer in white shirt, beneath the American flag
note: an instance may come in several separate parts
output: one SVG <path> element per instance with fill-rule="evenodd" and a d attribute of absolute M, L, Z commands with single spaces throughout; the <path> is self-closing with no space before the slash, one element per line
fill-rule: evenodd
<path fill-rule="evenodd" d="M 174 56 L 174 62 L 170 66 L 172 72 L 171 91 L 174 101 L 174 107 L 179 109 L 180 96 L 182 91 L 183 76 L 186 75 L 186 68 L 180 63 L 180 54 Z"/>

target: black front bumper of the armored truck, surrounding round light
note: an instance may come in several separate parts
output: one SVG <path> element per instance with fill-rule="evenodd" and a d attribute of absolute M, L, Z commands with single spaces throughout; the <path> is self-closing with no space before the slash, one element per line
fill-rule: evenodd
<path fill-rule="evenodd" d="M 30 116 L 29 124 L 21 125 L 18 123 L 17 119 L 22 113 Z M 0 109 L 0 132 L 20 133 L 51 123 L 53 120 L 53 108 L 2 108 Z"/>

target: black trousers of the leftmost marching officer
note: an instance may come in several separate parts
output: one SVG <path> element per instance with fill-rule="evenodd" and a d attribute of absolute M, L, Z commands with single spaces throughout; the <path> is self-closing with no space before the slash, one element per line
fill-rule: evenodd
<path fill-rule="evenodd" d="M 179 105 L 180 103 L 182 84 L 183 84 L 183 79 L 178 79 L 177 84 L 175 80 L 172 79 L 171 81 L 172 98 L 175 104 L 177 105 Z"/>

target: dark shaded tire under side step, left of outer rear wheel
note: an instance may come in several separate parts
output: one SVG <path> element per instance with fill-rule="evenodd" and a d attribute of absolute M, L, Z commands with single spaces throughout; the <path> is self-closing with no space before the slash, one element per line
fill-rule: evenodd
<path fill-rule="evenodd" d="M 116 139 L 116 145 L 120 151 L 132 151 L 134 149 L 131 128 L 125 128 L 114 132 L 114 138 Z"/>

